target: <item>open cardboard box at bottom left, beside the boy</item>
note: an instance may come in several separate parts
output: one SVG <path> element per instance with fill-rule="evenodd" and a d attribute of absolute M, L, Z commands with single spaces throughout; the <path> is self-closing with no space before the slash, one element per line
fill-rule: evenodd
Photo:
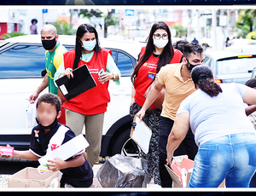
<path fill-rule="evenodd" d="M 37 168 L 26 167 L 9 177 L 8 187 L 49 187 L 55 178 L 59 178 L 59 171 L 39 174 Z"/>

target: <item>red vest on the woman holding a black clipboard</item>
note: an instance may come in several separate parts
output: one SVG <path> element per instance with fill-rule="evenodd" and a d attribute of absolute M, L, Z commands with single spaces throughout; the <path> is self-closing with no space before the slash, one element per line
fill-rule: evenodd
<path fill-rule="evenodd" d="M 88 66 L 90 74 L 96 82 L 96 87 L 85 91 L 83 94 L 74 97 L 70 101 L 65 101 L 63 103 L 63 107 L 84 115 L 94 115 L 107 111 L 108 102 L 110 101 L 110 95 L 108 92 L 109 81 L 104 84 L 99 82 L 98 72 L 102 68 L 106 72 L 108 53 L 112 54 L 111 50 L 102 49 L 102 51 L 97 55 L 97 59 L 96 52 L 94 52 L 94 55 L 89 62 L 82 60 L 79 61 L 79 66 L 83 66 L 84 64 Z M 64 53 L 65 70 L 68 67 L 73 68 L 74 56 L 75 49 Z"/>

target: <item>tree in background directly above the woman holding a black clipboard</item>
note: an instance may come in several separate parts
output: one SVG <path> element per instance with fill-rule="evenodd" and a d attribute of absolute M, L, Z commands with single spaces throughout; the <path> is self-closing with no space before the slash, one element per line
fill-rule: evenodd
<path fill-rule="evenodd" d="M 114 9 L 108 10 L 108 14 L 103 15 L 102 11 L 99 9 L 83 9 L 79 13 L 83 15 L 84 18 L 90 18 L 92 16 L 96 17 L 104 17 L 104 37 L 108 36 L 108 26 L 116 26 L 119 24 L 119 21 L 116 17 L 114 17 L 113 13 L 115 12 Z"/>

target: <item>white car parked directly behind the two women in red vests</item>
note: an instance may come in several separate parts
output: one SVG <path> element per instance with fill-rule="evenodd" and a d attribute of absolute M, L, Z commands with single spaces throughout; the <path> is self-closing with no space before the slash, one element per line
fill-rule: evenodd
<path fill-rule="evenodd" d="M 74 48 L 74 36 L 60 36 L 68 50 Z M 111 101 L 105 113 L 101 156 L 122 153 L 138 156 L 137 145 L 130 139 L 131 73 L 137 55 L 145 43 L 113 41 L 101 38 L 101 46 L 112 50 L 113 60 L 122 74 L 120 85 L 109 83 Z M 39 35 L 12 37 L 0 43 L 0 145 L 9 143 L 18 149 L 28 149 L 32 128 L 26 127 L 28 97 L 44 78 L 45 50 Z M 43 93 L 48 92 L 44 89 Z"/>

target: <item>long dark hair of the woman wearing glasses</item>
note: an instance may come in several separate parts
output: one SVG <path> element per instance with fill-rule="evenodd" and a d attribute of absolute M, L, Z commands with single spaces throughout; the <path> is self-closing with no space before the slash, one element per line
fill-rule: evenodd
<path fill-rule="evenodd" d="M 172 47 L 172 39 L 171 39 L 171 32 L 169 27 L 166 25 L 165 22 L 159 21 L 154 23 L 154 25 L 151 27 L 149 37 L 148 37 L 148 43 L 145 49 L 145 54 L 139 59 L 137 62 L 137 66 L 135 66 L 134 72 L 131 74 L 131 82 L 134 84 L 137 73 L 141 66 L 143 66 L 144 62 L 148 61 L 148 58 L 152 53 L 154 52 L 154 41 L 153 41 L 153 34 L 156 30 L 163 29 L 166 30 L 168 34 L 168 40 L 169 42 L 166 44 L 165 49 L 163 50 L 162 54 L 160 55 L 159 61 L 157 62 L 156 72 L 160 71 L 160 68 L 162 66 L 166 66 L 171 60 L 172 56 L 174 55 L 174 50 Z"/>

